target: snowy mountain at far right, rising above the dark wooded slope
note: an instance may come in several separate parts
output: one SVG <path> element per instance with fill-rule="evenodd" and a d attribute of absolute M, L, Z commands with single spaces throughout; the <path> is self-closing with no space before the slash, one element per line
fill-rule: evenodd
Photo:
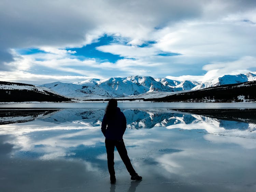
<path fill-rule="evenodd" d="M 208 80 L 201 84 L 198 84 L 192 90 L 204 89 L 208 87 L 214 87 L 218 85 L 227 85 L 227 84 L 235 84 L 235 83 L 244 83 L 248 81 L 256 80 L 256 74 L 254 73 L 245 73 L 238 75 L 224 75 L 222 77 L 215 78 L 213 80 Z"/>

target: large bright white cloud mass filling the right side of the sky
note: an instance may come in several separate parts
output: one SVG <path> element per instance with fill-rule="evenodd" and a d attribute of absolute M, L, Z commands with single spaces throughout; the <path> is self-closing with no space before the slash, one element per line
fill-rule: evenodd
<path fill-rule="evenodd" d="M 215 2 L 205 9 L 213 11 L 216 6 Z M 227 9 L 227 4 L 223 5 L 222 9 Z M 160 65 L 162 71 L 165 71 L 166 74 L 168 72 L 182 74 L 183 70 L 189 71 L 190 69 L 194 70 L 194 73 L 196 69 L 201 71 L 199 74 L 206 72 L 203 76 L 180 75 L 174 77 L 173 75 L 166 75 L 167 78 L 177 80 L 205 81 L 225 74 L 246 73 L 250 72 L 250 68 L 256 66 L 253 59 L 256 57 L 254 51 L 256 25 L 244 21 L 242 18 L 253 21 L 256 16 L 253 13 L 253 11 L 249 11 L 248 14 L 238 14 L 240 19 L 237 19 L 235 23 L 232 19 L 226 19 L 230 17 L 230 14 L 227 13 L 222 13 L 216 19 L 208 19 L 208 16 L 204 16 L 201 21 L 185 20 L 177 22 L 175 25 L 154 31 L 152 36 L 157 43 L 152 44 L 151 47 L 133 45 L 133 41 L 138 41 L 138 39 L 134 39 L 128 45 L 112 44 L 100 46 L 97 49 L 125 58 L 135 58 L 137 63 L 147 63 L 148 66 L 152 64 Z M 141 42 L 138 44 L 141 44 Z M 174 57 L 156 56 L 162 51 L 182 55 Z M 130 67 L 132 67 L 132 64 L 134 63 L 130 62 Z M 210 69 L 210 66 L 213 69 Z M 159 77 L 161 72 L 155 69 L 153 74 L 150 75 Z"/>

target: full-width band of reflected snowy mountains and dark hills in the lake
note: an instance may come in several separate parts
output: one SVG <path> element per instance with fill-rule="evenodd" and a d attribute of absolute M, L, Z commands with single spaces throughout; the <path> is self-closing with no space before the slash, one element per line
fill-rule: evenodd
<path fill-rule="evenodd" d="M 123 109 L 129 129 L 151 129 L 178 124 L 207 123 L 224 129 L 255 130 L 255 110 L 183 110 Z M 101 124 L 104 109 L 9 110 L 1 111 L 0 123 L 20 123 L 39 119 L 45 122 L 73 122 L 96 127 Z"/>

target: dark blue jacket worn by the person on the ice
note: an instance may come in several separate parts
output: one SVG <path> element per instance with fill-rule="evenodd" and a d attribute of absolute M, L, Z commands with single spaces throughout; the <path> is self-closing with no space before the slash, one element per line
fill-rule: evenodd
<path fill-rule="evenodd" d="M 107 126 L 108 125 L 108 126 Z M 126 130 L 126 118 L 119 107 L 116 107 L 116 114 L 113 118 L 108 119 L 106 114 L 101 123 L 101 131 L 106 139 L 123 139 Z"/>

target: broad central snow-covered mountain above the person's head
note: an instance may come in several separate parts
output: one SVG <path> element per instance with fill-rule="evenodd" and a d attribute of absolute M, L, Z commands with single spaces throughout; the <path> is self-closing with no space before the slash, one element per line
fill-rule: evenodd
<path fill-rule="evenodd" d="M 83 82 L 54 82 L 40 85 L 68 97 L 126 97 L 146 92 L 173 92 L 173 88 L 164 86 L 153 77 L 130 76 L 126 78 L 112 77 L 109 79 L 89 79 Z"/>

